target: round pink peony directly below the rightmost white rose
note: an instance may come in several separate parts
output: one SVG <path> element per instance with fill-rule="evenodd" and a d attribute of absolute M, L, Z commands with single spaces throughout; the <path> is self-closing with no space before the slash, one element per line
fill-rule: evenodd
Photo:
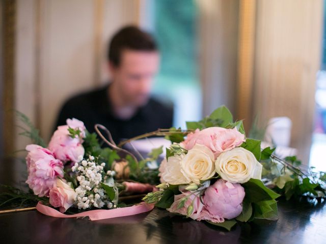
<path fill-rule="evenodd" d="M 206 189 L 203 202 L 211 215 L 230 220 L 241 213 L 243 198 L 244 189 L 240 184 L 219 179 Z"/>

